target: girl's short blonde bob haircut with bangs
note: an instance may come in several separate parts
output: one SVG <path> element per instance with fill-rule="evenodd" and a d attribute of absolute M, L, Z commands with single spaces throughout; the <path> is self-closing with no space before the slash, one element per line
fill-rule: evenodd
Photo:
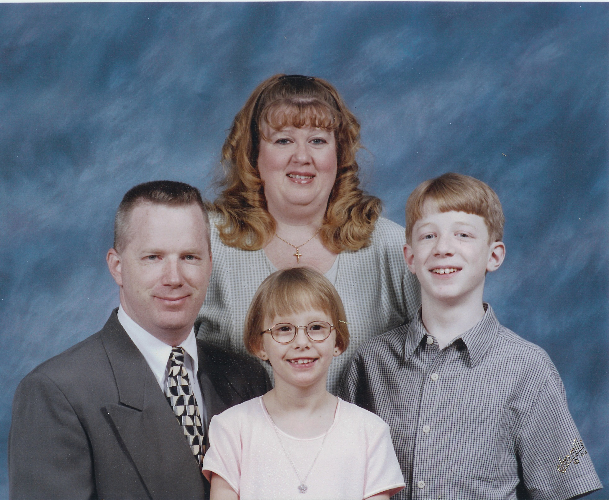
<path fill-rule="evenodd" d="M 326 276 L 308 267 L 281 269 L 262 281 L 245 315 L 243 341 L 247 352 L 258 356 L 261 332 L 273 326 L 270 322 L 275 317 L 308 309 L 319 309 L 331 317 L 336 347 L 344 352 L 349 345 L 349 330 L 342 300 Z"/>

